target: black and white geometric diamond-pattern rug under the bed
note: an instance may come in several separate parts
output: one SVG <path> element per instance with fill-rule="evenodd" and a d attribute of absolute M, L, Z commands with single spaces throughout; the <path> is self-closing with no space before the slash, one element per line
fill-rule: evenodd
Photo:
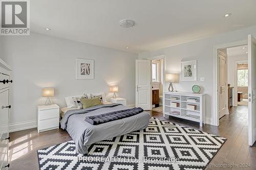
<path fill-rule="evenodd" d="M 37 154 L 41 170 L 195 170 L 204 169 L 225 141 L 152 117 L 146 129 L 94 143 L 87 155 L 76 154 L 72 140 Z"/>

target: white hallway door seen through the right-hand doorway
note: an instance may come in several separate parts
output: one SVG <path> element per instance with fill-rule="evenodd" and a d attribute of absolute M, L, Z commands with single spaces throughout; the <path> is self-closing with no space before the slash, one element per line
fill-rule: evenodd
<path fill-rule="evenodd" d="M 226 88 L 226 56 L 221 52 L 218 53 L 219 57 L 219 119 L 226 114 L 227 110 L 227 88 Z"/>

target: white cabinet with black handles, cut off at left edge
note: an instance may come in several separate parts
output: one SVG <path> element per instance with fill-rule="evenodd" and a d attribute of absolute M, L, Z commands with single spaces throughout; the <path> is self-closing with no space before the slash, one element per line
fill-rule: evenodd
<path fill-rule="evenodd" d="M 0 169 L 8 169 L 10 67 L 0 59 Z"/>

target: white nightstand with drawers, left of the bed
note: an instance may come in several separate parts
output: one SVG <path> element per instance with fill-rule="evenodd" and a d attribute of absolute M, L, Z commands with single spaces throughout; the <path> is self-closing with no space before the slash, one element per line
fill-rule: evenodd
<path fill-rule="evenodd" d="M 38 133 L 59 129 L 59 106 L 37 106 L 37 131 Z"/>

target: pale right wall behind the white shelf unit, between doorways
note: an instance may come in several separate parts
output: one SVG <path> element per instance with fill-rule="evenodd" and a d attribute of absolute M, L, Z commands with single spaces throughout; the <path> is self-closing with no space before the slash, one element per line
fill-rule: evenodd
<path fill-rule="evenodd" d="M 198 84 L 206 93 L 206 122 L 212 124 L 212 70 L 213 70 L 213 47 L 234 41 L 246 40 L 247 35 L 256 36 L 256 27 L 223 33 L 209 38 L 187 42 L 180 45 L 170 46 L 156 51 L 139 54 L 140 59 L 165 55 L 165 72 L 180 72 L 180 62 L 197 60 L 198 81 L 184 81 L 175 84 L 178 91 L 191 92 L 193 85 Z M 205 77 L 205 82 L 200 82 L 200 77 Z M 165 84 L 165 90 L 168 85 Z"/>

